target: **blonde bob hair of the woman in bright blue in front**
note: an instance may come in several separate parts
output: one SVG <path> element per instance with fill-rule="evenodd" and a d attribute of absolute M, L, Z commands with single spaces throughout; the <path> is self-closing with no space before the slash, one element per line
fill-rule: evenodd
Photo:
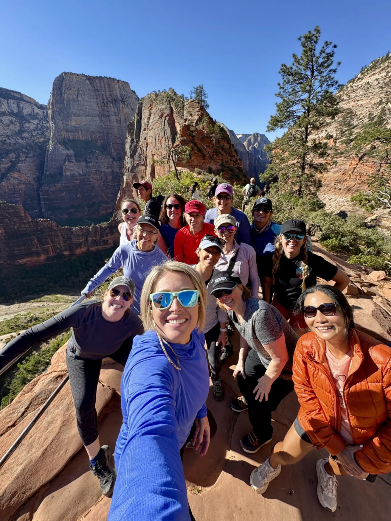
<path fill-rule="evenodd" d="M 151 293 L 155 292 L 155 288 L 157 282 L 167 273 L 184 273 L 189 277 L 193 286 L 196 290 L 200 292 L 200 305 L 198 308 L 198 320 L 197 326 L 200 331 L 204 327 L 205 322 L 205 312 L 206 312 L 206 287 L 205 282 L 202 280 L 201 275 L 194 268 L 189 266 L 188 264 L 177 262 L 177 261 L 167 261 L 160 266 L 154 266 L 149 272 L 148 277 L 146 277 L 145 282 L 141 291 L 141 319 L 144 326 L 144 330 L 148 331 L 149 329 L 154 330 L 153 322 L 152 322 L 152 313 L 151 313 L 151 303 L 149 301 L 149 296 Z"/>

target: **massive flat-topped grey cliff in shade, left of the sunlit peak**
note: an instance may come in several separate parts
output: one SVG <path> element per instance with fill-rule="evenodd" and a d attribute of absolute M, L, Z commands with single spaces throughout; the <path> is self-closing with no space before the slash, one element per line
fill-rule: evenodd
<path fill-rule="evenodd" d="M 113 212 L 126 127 L 139 98 L 129 83 L 63 72 L 48 103 L 50 142 L 40 187 L 42 216 L 59 222 Z"/>

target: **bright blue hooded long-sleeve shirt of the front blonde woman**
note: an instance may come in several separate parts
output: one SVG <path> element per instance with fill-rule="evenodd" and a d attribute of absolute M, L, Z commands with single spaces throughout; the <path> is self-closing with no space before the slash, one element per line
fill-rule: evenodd
<path fill-rule="evenodd" d="M 190 519 L 179 450 L 194 419 L 207 414 L 209 371 L 203 333 L 193 331 L 188 344 L 171 345 L 180 371 L 169 363 L 154 331 L 133 340 L 121 381 L 124 419 L 108 521 Z"/>

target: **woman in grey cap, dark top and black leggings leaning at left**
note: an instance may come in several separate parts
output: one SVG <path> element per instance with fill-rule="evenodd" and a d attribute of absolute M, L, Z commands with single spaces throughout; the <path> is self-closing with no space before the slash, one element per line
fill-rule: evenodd
<path fill-rule="evenodd" d="M 33 345 L 72 328 L 66 362 L 70 388 L 76 407 L 77 428 L 90 458 L 90 468 L 99 479 L 102 493 L 111 496 L 115 469 L 109 462 L 107 445 L 100 446 L 96 388 L 102 358 L 108 356 L 125 365 L 133 338 L 142 334 L 140 318 L 129 308 L 135 284 L 127 277 L 116 277 L 105 291 L 103 301 L 84 301 L 68 307 L 42 324 L 27 329 L 0 351 L 0 368 Z"/>

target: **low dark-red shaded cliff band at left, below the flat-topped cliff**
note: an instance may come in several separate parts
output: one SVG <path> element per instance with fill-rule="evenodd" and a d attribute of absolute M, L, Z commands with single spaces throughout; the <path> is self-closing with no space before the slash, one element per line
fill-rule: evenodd
<path fill-rule="evenodd" d="M 42 264 L 54 255 L 80 255 L 117 245 L 116 225 L 58 226 L 31 219 L 20 205 L 0 202 L 0 266 Z"/>

